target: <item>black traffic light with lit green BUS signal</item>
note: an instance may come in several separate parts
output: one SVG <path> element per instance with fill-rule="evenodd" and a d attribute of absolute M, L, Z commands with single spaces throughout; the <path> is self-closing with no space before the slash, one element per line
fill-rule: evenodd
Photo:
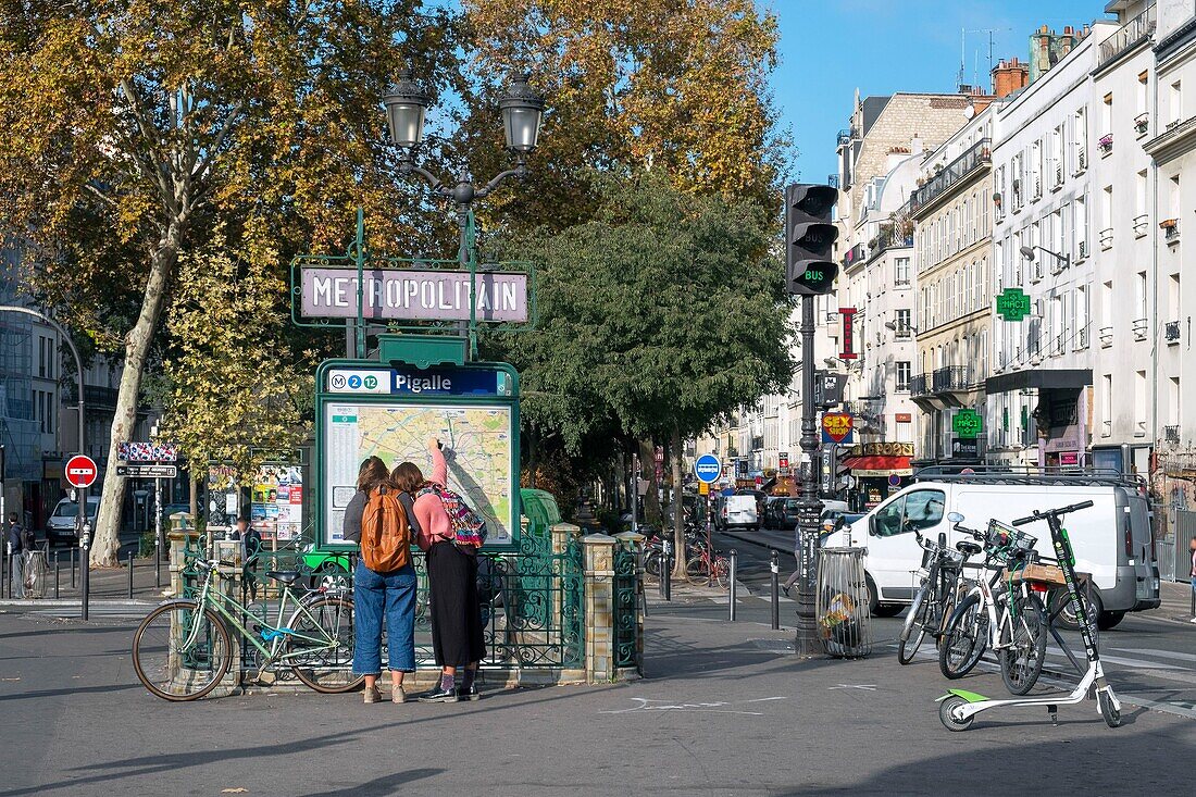
<path fill-rule="evenodd" d="M 838 189 L 795 183 L 785 189 L 785 275 L 789 293 L 830 293 L 838 275 L 831 248 L 838 229 L 830 223 Z"/>

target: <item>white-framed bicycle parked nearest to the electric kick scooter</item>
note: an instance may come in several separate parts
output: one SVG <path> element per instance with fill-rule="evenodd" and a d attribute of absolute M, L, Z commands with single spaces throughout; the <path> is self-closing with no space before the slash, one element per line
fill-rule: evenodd
<path fill-rule="evenodd" d="M 952 512 L 950 519 L 959 524 L 964 518 Z M 984 535 L 987 556 L 981 568 L 995 572 L 991 578 L 977 578 L 947 620 L 939 647 L 939 668 L 948 679 L 970 673 L 991 647 L 997 652 L 1001 679 L 1009 692 L 1026 694 L 1038 681 L 1046 656 L 1046 610 L 1036 589 L 1025 579 L 1014 578 L 1037 559 L 1035 542 L 1024 531 L 995 519 L 989 522 Z"/>

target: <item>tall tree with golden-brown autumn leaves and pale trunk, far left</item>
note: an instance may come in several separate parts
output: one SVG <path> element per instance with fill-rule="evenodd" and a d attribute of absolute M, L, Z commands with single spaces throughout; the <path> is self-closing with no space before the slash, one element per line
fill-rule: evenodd
<path fill-rule="evenodd" d="M 23 239 L 33 293 L 124 366 L 93 562 L 115 561 L 115 446 L 184 257 L 218 227 L 240 253 L 251 218 L 280 251 L 340 251 L 359 203 L 372 238 L 419 245 L 392 212 L 378 98 L 401 63 L 452 72 L 452 26 L 420 6 L 0 4 L 5 233 Z"/>

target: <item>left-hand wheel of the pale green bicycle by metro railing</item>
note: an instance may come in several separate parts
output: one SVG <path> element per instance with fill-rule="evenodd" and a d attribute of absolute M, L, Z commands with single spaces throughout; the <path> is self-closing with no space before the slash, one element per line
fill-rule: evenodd
<path fill-rule="evenodd" d="M 133 635 L 133 669 L 163 700 L 196 700 L 212 692 L 232 663 L 228 629 L 194 601 L 165 603 Z"/>

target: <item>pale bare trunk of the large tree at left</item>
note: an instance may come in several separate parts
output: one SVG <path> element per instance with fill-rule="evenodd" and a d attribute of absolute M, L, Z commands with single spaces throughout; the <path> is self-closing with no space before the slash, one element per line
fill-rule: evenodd
<path fill-rule="evenodd" d="M 110 567 L 118 564 L 121 547 L 121 504 L 124 497 L 124 479 L 116 475 L 117 446 L 130 439 L 138 422 L 138 400 L 141 396 L 141 376 L 153 342 L 154 330 L 163 305 L 166 303 L 166 286 L 178 260 L 179 230 L 171 225 L 161 247 L 151 256 L 146 296 L 141 303 L 138 321 L 124 339 L 124 370 L 116 396 L 116 413 L 108 443 L 108 466 L 104 471 L 104 492 L 96 516 L 96 537 L 91 546 L 91 564 Z"/>

